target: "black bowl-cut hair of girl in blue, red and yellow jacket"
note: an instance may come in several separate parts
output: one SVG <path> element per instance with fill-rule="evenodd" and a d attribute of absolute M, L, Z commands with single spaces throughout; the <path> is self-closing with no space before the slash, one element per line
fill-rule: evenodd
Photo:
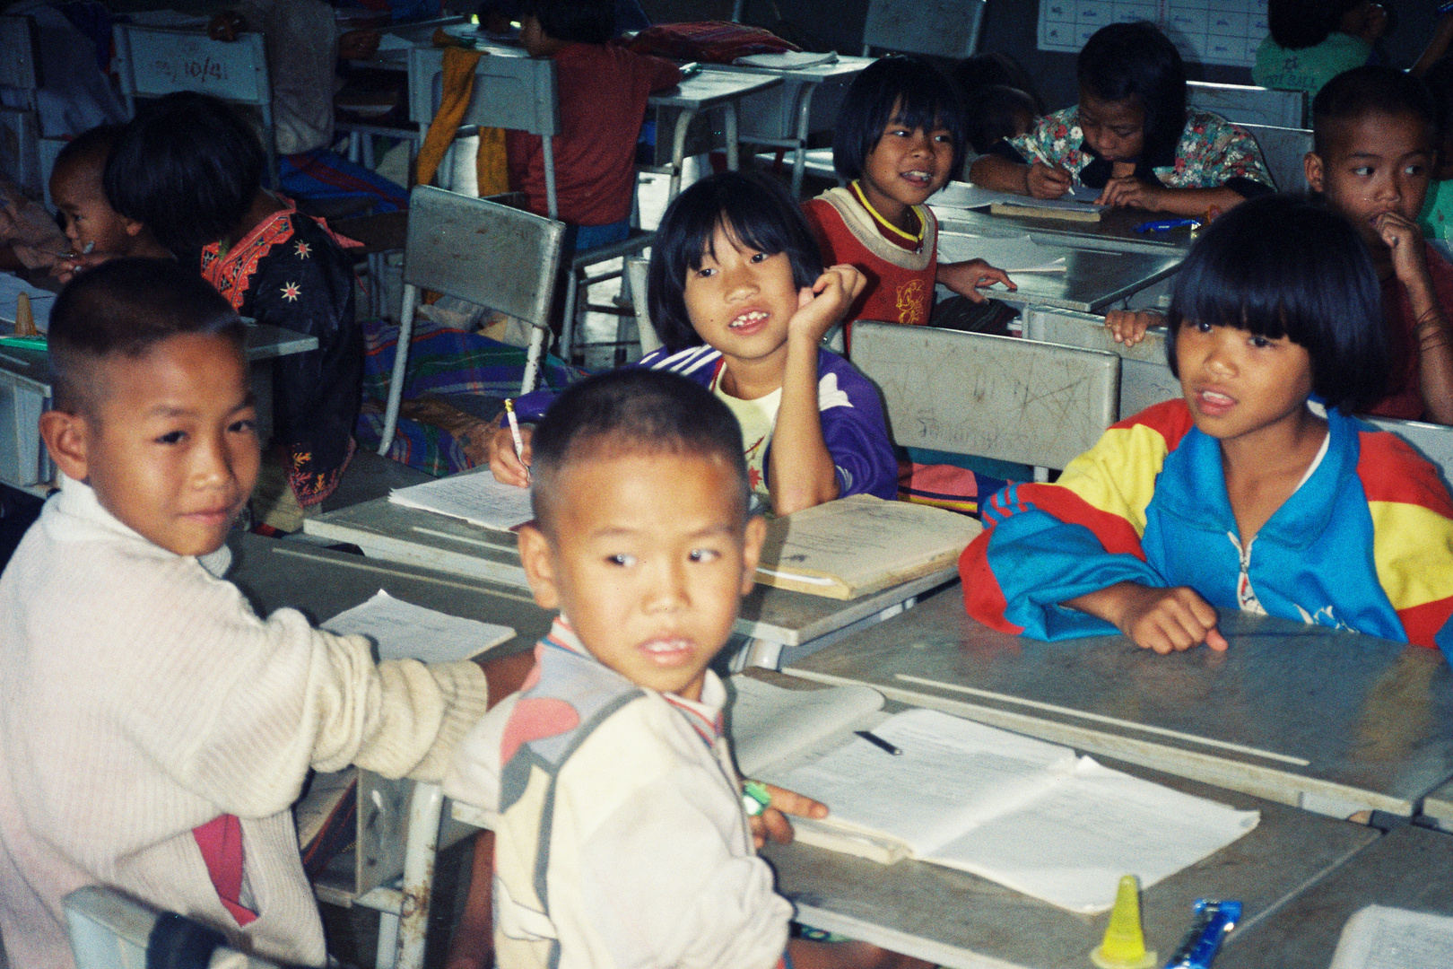
<path fill-rule="evenodd" d="M 1284 336 L 1306 347 L 1312 392 L 1344 413 L 1386 392 L 1377 273 L 1351 222 L 1318 202 L 1267 195 L 1212 222 L 1175 273 L 1165 344 L 1171 373 L 1175 334 L 1187 323 Z"/>

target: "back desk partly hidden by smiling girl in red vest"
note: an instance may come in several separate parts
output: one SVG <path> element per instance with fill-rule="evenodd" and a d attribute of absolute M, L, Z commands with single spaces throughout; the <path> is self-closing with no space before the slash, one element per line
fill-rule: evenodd
<path fill-rule="evenodd" d="M 716 68 L 782 78 L 782 87 L 742 99 L 740 123 L 741 139 L 747 144 L 792 151 L 792 198 L 802 195 L 808 137 L 818 131 L 831 131 L 837 125 L 837 115 L 849 86 L 875 60 L 840 54 L 831 64 L 792 70 L 747 64 Z"/>

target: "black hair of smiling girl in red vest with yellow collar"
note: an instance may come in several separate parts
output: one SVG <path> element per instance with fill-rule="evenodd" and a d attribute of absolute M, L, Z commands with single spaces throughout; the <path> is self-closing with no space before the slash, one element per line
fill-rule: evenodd
<path fill-rule="evenodd" d="M 891 122 L 923 131 L 947 128 L 953 135 L 950 171 L 963 169 L 963 102 L 953 81 L 921 57 L 889 54 L 863 68 L 847 89 L 833 131 L 837 173 L 847 180 L 862 177 L 867 155 Z"/>

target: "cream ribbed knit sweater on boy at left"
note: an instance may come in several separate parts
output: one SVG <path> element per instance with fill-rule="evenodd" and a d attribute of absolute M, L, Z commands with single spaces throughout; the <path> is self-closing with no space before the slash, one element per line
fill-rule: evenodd
<path fill-rule="evenodd" d="M 0 934 L 15 969 L 73 965 L 61 898 L 89 883 L 323 965 L 288 809 L 308 767 L 439 779 L 485 708 L 475 664 L 375 664 L 363 638 L 291 609 L 259 619 L 235 585 L 68 479 L 0 577 Z M 259 911 L 246 930 L 192 837 L 219 814 L 241 818 Z"/>

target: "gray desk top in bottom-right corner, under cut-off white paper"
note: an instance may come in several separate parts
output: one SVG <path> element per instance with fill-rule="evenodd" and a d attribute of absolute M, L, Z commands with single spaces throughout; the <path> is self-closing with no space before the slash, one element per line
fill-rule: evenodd
<path fill-rule="evenodd" d="M 1270 918 L 1226 940 L 1218 969 L 1325 969 L 1343 925 L 1364 905 L 1453 915 L 1453 835 L 1395 828 Z"/>

